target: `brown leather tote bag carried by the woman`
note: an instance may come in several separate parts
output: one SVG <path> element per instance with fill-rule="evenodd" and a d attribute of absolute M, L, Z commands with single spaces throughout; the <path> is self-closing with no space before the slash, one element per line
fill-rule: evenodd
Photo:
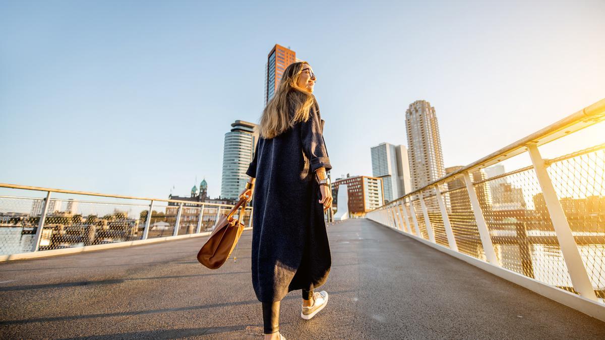
<path fill-rule="evenodd" d="M 218 269 L 231 256 L 231 252 L 233 252 L 237 241 L 240 239 L 241 232 L 244 230 L 244 223 L 237 218 L 233 218 L 233 215 L 241 206 L 239 217 L 243 219 L 247 202 L 246 198 L 241 198 L 229 214 L 222 215 L 218 219 L 212 234 L 197 253 L 197 260 L 201 264 L 210 269 Z"/>

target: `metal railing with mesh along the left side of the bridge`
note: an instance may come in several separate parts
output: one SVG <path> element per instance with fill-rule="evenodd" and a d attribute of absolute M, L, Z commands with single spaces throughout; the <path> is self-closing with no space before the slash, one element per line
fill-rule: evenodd
<path fill-rule="evenodd" d="M 0 188 L 45 196 L 0 195 L 0 255 L 202 234 L 214 228 L 221 213 L 233 208 L 232 204 L 7 183 L 0 183 Z M 55 197 L 57 194 L 71 198 Z M 246 207 L 243 221 L 252 226 L 252 206 Z"/>

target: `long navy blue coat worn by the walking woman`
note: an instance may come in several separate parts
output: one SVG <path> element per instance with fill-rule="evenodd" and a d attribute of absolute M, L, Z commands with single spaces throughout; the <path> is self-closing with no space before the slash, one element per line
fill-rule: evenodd
<path fill-rule="evenodd" d="M 293 112 L 290 111 L 290 117 Z M 324 120 L 313 105 L 307 122 L 258 140 L 246 174 L 255 177 L 252 286 L 258 301 L 281 301 L 325 283 L 332 266 L 315 170 L 332 169 Z"/>

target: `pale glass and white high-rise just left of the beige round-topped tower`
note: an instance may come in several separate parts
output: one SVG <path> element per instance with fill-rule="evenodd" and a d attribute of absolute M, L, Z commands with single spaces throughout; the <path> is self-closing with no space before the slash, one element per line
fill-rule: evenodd
<path fill-rule="evenodd" d="M 390 202 L 410 192 L 410 166 L 405 145 L 383 142 L 372 146 L 370 151 L 372 175 L 382 179 L 385 202 Z"/>

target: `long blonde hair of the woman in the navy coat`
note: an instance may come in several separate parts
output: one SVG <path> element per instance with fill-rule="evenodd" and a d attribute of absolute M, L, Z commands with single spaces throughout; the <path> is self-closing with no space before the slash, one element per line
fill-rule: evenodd
<path fill-rule="evenodd" d="M 297 122 L 309 120 L 309 111 L 315 96 L 296 85 L 306 61 L 295 62 L 286 67 L 275 95 L 263 110 L 257 132 L 264 139 L 279 136 Z M 290 111 L 294 115 L 290 115 Z"/>

